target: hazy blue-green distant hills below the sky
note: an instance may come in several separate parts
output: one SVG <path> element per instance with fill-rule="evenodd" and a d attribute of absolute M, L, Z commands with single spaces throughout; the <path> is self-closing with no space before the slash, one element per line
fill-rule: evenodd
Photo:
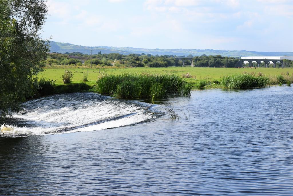
<path fill-rule="evenodd" d="M 84 54 L 90 54 L 91 50 L 93 54 L 97 54 L 99 51 L 102 53 L 120 53 L 120 54 L 151 54 L 151 55 L 176 55 L 176 56 L 188 56 L 192 54 L 193 56 L 205 55 L 222 55 L 222 56 L 293 56 L 293 52 L 256 52 L 256 51 L 246 51 L 246 50 L 211 50 L 211 49 L 147 49 L 147 48 L 132 48 L 132 47 L 112 47 L 112 46 L 78 46 L 71 43 L 62 43 L 50 41 L 51 52 L 82 52 Z"/>

